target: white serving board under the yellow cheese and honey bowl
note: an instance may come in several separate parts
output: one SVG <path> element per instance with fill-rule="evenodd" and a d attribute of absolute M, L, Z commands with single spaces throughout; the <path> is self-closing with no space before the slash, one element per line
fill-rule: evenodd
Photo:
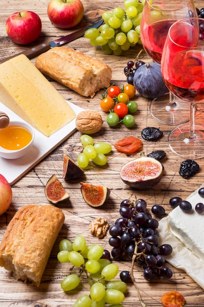
<path fill-rule="evenodd" d="M 71 102 L 68 102 L 68 104 L 76 115 L 83 111 L 82 108 Z M 9 116 L 10 121 L 19 120 L 23 122 L 21 117 L 16 115 L 1 102 L 0 111 L 5 112 Z M 29 153 L 19 159 L 13 160 L 0 157 L 0 174 L 3 175 L 11 185 L 14 184 L 76 130 L 75 121 L 76 118 L 49 137 L 35 129 L 35 140 Z"/>

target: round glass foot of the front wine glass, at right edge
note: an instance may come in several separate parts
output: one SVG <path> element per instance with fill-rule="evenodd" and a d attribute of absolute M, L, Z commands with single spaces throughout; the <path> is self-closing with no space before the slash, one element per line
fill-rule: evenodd
<path fill-rule="evenodd" d="M 175 128 L 168 137 L 171 151 L 185 159 L 204 157 L 204 126 L 195 124 L 195 137 L 189 139 L 189 124 Z"/>

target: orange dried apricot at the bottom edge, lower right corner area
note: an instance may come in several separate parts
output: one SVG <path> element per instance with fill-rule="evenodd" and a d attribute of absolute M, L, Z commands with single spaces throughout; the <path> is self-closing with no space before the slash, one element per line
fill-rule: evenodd
<path fill-rule="evenodd" d="M 182 307 L 185 304 L 185 299 L 181 293 L 170 291 L 161 297 L 161 304 L 164 307 Z"/>

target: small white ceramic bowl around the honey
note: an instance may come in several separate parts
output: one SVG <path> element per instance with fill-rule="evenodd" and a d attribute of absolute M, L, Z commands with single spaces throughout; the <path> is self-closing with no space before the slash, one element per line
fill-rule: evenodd
<path fill-rule="evenodd" d="M 20 121 L 10 121 L 8 126 L 14 126 L 14 125 L 22 126 L 24 128 L 27 128 L 30 131 L 30 133 L 32 134 L 32 140 L 25 147 L 23 147 L 19 150 L 7 150 L 7 149 L 4 149 L 0 146 L 0 156 L 2 158 L 5 158 L 5 159 L 18 159 L 18 158 L 22 157 L 23 155 L 25 155 L 26 153 L 28 153 L 33 146 L 33 142 L 34 142 L 34 138 L 35 138 L 34 128 L 32 126 L 30 126 L 29 124 L 27 124 L 25 122 L 20 122 Z"/>

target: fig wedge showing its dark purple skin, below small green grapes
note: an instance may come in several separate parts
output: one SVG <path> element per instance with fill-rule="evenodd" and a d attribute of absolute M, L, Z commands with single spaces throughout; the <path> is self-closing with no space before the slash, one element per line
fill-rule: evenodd
<path fill-rule="evenodd" d="M 62 177 L 66 180 L 73 180 L 84 174 L 84 171 L 66 154 L 63 155 Z"/>

